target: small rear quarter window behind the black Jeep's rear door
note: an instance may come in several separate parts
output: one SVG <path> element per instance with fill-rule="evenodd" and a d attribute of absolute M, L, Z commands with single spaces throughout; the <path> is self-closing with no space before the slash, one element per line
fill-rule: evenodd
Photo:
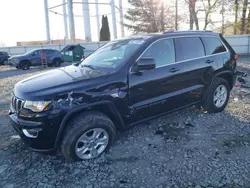
<path fill-rule="evenodd" d="M 216 37 L 204 37 L 203 40 L 206 43 L 207 55 L 218 54 L 227 51 L 225 46 Z"/>

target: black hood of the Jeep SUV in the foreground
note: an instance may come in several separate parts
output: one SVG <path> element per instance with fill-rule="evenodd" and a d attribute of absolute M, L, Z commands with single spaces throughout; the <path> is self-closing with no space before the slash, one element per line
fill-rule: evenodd
<path fill-rule="evenodd" d="M 26 100 L 50 100 L 58 94 L 82 90 L 83 87 L 104 81 L 106 76 L 105 72 L 71 65 L 18 82 L 14 95 Z"/>

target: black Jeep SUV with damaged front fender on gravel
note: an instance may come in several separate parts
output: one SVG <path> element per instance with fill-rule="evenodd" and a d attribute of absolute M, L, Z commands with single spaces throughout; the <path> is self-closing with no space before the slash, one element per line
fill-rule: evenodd
<path fill-rule="evenodd" d="M 17 83 L 11 124 L 32 150 L 95 158 L 117 130 L 194 104 L 221 112 L 236 81 L 236 60 L 226 40 L 207 31 L 112 41 L 78 65 Z"/>

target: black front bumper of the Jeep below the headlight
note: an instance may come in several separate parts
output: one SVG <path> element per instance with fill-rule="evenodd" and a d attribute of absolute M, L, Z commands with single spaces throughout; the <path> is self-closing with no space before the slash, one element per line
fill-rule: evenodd
<path fill-rule="evenodd" d="M 42 117 L 28 119 L 21 118 L 10 110 L 9 117 L 12 127 L 29 149 L 45 153 L 56 151 L 55 143 L 62 120 L 60 113 L 51 114 L 50 112 Z M 35 136 L 31 137 L 27 133 Z"/>

